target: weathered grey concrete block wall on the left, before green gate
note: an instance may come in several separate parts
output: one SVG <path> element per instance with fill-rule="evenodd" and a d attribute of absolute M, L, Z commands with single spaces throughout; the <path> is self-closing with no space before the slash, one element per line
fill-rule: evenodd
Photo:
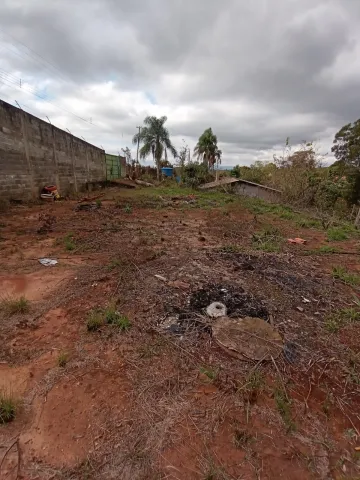
<path fill-rule="evenodd" d="M 103 150 L 0 100 L 0 198 L 37 198 L 51 184 L 67 195 L 105 179 Z"/>

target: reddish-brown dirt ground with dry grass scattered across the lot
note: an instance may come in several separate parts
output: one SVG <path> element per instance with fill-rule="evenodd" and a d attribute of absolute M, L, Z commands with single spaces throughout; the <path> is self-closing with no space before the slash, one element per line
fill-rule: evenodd
<path fill-rule="evenodd" d="M 317 253 L 323 230 L 226 193 L 109 189 L 78 205 L 0 214 L 0 390 L 16 401 L 0 478 L 360 479 L 360 322 L 329 331 L 359 311 L 358 287 L 332 276 L 360 269 L 356 238 Z M 254 247 L 269 225 L 278 252 Z M 201 303 L 216 288 L 229 310 L 258 306 L 283 339 L 276 359 L 220 348 Z M 20 297 L 28 311 L 10 312 Z M 131 327 L 89 331 L 109 307 Z"/>

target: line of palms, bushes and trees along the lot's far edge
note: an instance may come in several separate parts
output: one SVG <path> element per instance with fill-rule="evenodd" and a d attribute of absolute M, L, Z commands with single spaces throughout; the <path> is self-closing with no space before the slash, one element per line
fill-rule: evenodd
<path fill-rule="evenodd" d="M 187 145 L 179 151 L 174 147 L 166 127 L 167 117 L 148 116 L 140 131 L 134 135 L 141 159 L 152 157 L 158 178 L 163 166 L 171 165 L 169 156 L 182 169 L 187 184 L 196 186 L 211 180 L 209 171 L 221 164 L 222 151 L 211 128 L 199 137 L 193 155 Z M 231 175 L 256 183 L 280 188 L 284 198 L 303 205 L 334 207 L 341 201 L 347 205 L 360 199 L 360 119 L 342 127 L 335 135 L 332 152 L 336 162 L 324 166 L 324 157 L 312 142 L 303 143 L 293 151 L 287 139 L 281 155 L 272 162 L 255 162 L 233 168 Z M 126 156 L 129 156 L 127 149 Z M 191 160 L 192 157 L 197 162 Z M 345 207 L 344 207 L 345 208 Z"/>

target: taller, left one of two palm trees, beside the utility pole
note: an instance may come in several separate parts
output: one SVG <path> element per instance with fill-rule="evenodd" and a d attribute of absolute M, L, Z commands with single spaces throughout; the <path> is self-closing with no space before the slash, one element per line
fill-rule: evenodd
<path fill-rule="evenodd" d="M 169 130 L 164 126 L 167 117 L 146 117 L 144 127 L 134 135 L 133 143 L 142 143 L 140 158 L 146 158 L 150 154 L 157 168 L 158 180 L 160 179 L 160 163 L 164 155 L 167 160 L 167 152 L 170 151 L 174 158 L 177 151 L 170 140 Z"/>

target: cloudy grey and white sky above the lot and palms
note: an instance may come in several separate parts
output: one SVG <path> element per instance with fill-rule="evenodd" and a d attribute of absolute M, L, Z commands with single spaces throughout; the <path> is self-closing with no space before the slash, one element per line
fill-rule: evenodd
<path fill-rule="evenodd" d="M 359 0 L 0 2 L 0 98 L 109 153 L 166 115 L 178 149 L 212 127 L 223 165 L 287 137 L 330 162 L 359 85 Z"/>

